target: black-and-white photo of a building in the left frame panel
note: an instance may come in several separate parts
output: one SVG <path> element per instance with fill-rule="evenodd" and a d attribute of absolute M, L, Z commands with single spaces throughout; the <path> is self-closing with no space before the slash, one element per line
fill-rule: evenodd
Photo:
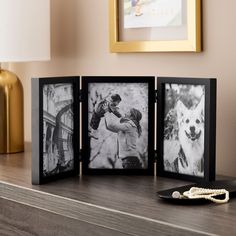
<path fill-rule="evenodd" d="M 73 150 L 73 85 L 43 86 L 43 175 L 72 170 Z"/>

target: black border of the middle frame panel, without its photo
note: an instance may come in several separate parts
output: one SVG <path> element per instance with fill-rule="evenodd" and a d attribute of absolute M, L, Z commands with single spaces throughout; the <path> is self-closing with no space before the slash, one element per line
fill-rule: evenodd
<path fill-rule="evenodd" d="M 90 83 L 147 83 L 148 85 L 148 167 L 146 169 L 97 169 L 89 168 L 90 137 L 89 137 L 89 84 Z M 83 174 L 123 174 L 153 175 L 154 174 L 154 89 L 155 77 L 151 76 L 85 76 L 82 77 L 83 88 L 83 125 L 82 125 L 82 157 Z"/>

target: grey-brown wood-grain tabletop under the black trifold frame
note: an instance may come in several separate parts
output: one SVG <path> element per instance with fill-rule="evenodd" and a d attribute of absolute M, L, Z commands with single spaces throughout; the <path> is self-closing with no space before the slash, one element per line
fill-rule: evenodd
<path fill-rule="evenodd" d="M 30 166 L 30 150 L 1 156 L 0 196 L 128 235 L 236 235 L 236 199 L 222 205 L 186 206 L 166 203 L 156 195 L 189 182 L 82 176 L 32 186 Z"/>

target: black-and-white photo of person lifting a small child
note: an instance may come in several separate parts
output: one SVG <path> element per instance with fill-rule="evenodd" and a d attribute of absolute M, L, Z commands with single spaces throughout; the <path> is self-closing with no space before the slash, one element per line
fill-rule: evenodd
<path fill-rule="evenodd" d="M 87 84 L 87 168 L 149 170 L 150 83 L 119 78 Z"/>

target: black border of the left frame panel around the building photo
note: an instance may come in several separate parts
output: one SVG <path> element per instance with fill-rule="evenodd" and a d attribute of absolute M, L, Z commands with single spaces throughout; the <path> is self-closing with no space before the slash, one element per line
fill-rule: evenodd
<path fill-rule="evenodd" d="M 79 174 L 79 81 L 80 77 L 47 77 L 47 78 L 33 78 L 32 79 L 32 184 L 43 184 L 57 179 L 62 179 L 70 176 L 76 176 Z M 43 174 L 43 140 L 44 135 L 44 111 L 43 111 L 43 87 L 45 85 L 60 85 L 71 84 L 73 86 L 73 103 L 69 103 L 69 100 L 65 101 L 65 107 L 69 110 L 72 106 L 73 111 L 73 134 L 70 140 L 71 149 L 73 151 L 73 168 L 53 172 L 51 175 Z M 61 113 L 64 114 L 64 110 L 61 108 Z M 59 112 L 60 112 L 59 111 Z M 58 112 L 58 114 L 59 114 Z M 57 114 L 57 115 L 58 115 Z M 50 116 L 50 114 L 49 114 Z M 52 120 L 56 117 L 51 117 Z M 53 121 L 52 121 L 53 122 Z M 61 121 L 57 122 L 58 124 Z M 66 128 L 66 126 L 65 126 Z M 56 128 L 55 128 L 56 129 Z M 58 131 L 59 132 L 59 131 Z M 59 137 L 59 135 L 58 135 Z M 59 139 L 59 138 L 58 138 Z M 62 138 L 61 138 L 62 139 Z M 59 141 L 58 141 L 59 143 Z M 61 140 L 61 145 L 64 145 Z M 64 148 L 64 147 L 63 147 Z M 58 151 L 59 153 L 59 151 Z M 60 155 L 60 154 L 58 154 Z M 58 159 L 59 160 L 59 159 Z M 61 168 L 61 166 L 60 166 Z"/>

